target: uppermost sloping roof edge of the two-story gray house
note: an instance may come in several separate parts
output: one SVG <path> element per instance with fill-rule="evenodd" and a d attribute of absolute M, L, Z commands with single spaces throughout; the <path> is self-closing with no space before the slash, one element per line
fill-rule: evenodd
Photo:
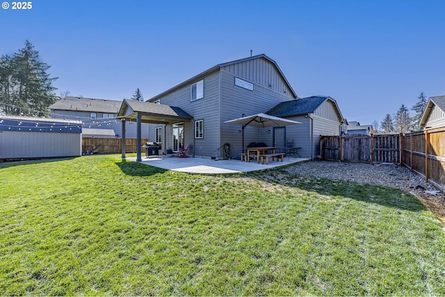
<path fill-rule="evenodd" d="M 204 72 L 201 72 L 200 74 L 195 75 L 194 77 L 191 77 L 190 79 L 187 79 L 186 81 L 183 81 L 181 83 L 179 83 L 178 85 L 165 90 L 163 93 L 160 93 L 150 99 L 148 99 L 147 101 L 153 102 L 156 99 L 159 99 L 161 97 L 163 97 L 165 94 L 168 94 L 170 92 L 172 92 L 173 90 L 177 90 L 178 88 L 182 88 L 183 86 L 189 85 L 191 83 L 194 83 L 195 81 L 197 81 L 198 79 L 201 79 L 202 77 L 206 76 L 207 74 L 216 71 L 216 70 L 220 70 L 221 67 L 225 67 L 227 65 L 232 65 L 232 64 L 236 64 L 236 63 L 241 63 L 244 61 L 249 61 L 249 60 L 254 60 L 257 58 L 264 58 L 266 60 L 268 60 L 270 63 L 273 63 L 273 65 L 275 65 L 278 73 L 280 73 L 280 76 L 282 77 L 282 79 L 286 82 L 287 86 L 289 87 L 289 90 L 291 90 L 293 97 L 298 98 L 297 94 L 295 93 L 295 91 L 293 90 L 291 84 L 289 83 L 289 81 L 287 81 L 286 77 L 284 77 L 283 72 L 280 70 L 280 67 L 278 67 L 277 63 L 275 61 L 273 61 L 271 58 L 269 58 L 268 56 L 266 56 L 265 54 L 260 54 L 257 56 L 252 56 L 252 57 L 248 57 L 248 58 L 243 58 L 243 59 L 239 59 L 239 60 L 235 60 L 235 61 L 230 61 L 230 62 L 226 62 L 226 63 L 221 63 L 218 65 L 215 65 L 207 70 L 205 70 Z"/>

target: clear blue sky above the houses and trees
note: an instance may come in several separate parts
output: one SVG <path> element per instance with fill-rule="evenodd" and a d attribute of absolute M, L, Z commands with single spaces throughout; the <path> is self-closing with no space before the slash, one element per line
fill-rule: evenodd
<path fill-rule="evenodd" d="M 0 9 L 0 54 L 31 41 L 57 93 L 122 99 L 140 88 L 149 99 L 252 49 L 299 97 L 329 95 L 362 125 L 422 91 L 445 95 L 442 0 L 31 2 Z"/>

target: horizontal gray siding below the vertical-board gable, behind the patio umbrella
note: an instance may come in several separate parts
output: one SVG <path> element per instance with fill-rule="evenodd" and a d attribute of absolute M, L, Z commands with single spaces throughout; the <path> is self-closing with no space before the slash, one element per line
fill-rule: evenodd
<path fill-rule="evenodd" d="M 239 69 L 239 67 L 238 67 Z M 275 67 L 274 67 L 275 69 Z M 221 71 L 221 138 L 220 143 L 229 143 L 232 146 L 232 154 L 240 154 L 243 151 L 241 125 L 225 123 L 227 120 L 241 118 L 244 115 L 264 113 L 280 102 L 289 101 L 289 96 L 275 92 L 270 88 L 261 86 L 254 81 L 253 90 L 247 90 L 235 86 L 235 77 L 231 72 Z M 272 145 L 268 138 L 262 138 L 261 129 L 245 127 L 244 145 L 261 141 L 266 145 Z M 267 137 L 267 136 L 264 136 Z"/>

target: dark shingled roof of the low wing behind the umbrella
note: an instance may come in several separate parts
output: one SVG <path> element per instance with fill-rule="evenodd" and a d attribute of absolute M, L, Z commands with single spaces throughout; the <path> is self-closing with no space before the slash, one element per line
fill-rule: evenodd
<path fill-rule="evenodd" d="M 341 115 L 337 102 L 329 96 L 321 95 L 281 102 L 266 113 L 268 115 L 275 115 L 280 118 L 286 118 L 295 115 L 307 115 L 308 113 L 314 113 L 314 111 L 318 109 L 318 106 L 323 104 L 323 102 L 325 102 L 326 100 L 330 100 L 334 104 L 335 108 L 337 109 L 340 122 L 343 122 L 343 116 Z"/>

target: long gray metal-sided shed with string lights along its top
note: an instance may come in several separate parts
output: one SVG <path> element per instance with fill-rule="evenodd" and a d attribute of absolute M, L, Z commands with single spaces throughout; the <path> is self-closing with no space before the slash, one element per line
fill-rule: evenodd
<path fill-rule="evenodd" d="M 0 115 L 0 159 L 81 156 L 82 122 Z"/>

